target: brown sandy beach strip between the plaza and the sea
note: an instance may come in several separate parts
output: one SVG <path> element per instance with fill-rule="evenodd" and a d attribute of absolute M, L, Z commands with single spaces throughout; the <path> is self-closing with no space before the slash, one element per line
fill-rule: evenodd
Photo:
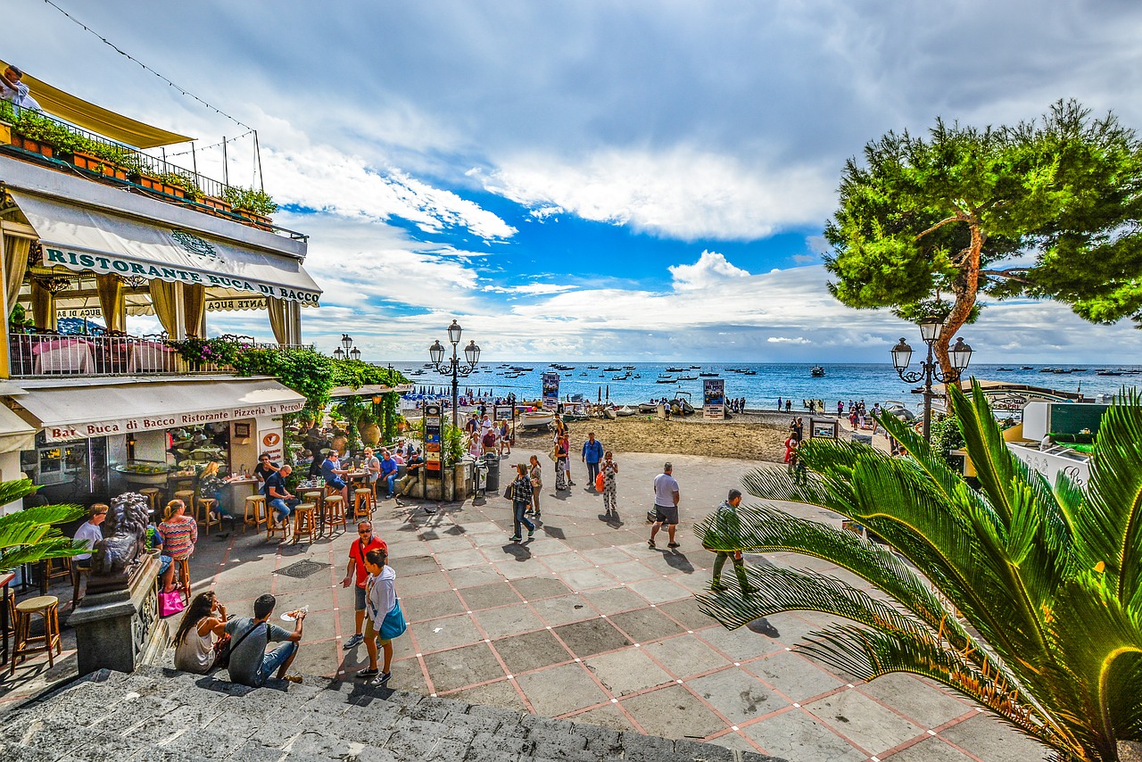
<path fill-rule="evenodd" d="M 785 412 L 749 412 L 735 415 L 730 420 L 706 420 L 701 415 L 660 420 L 652 416 L 629 416 L 614 420 L 595 418 L 571 422 L 568 432 L 572 450 L 587 439 L 587 432 L 608 449 L 619 452 L 664 455 L 699 455 L 739 460 L 769 460 L 785 458 L 785 439 L 790 416 Z M 540 448 L 550 439 L 547 432 L 516 432 L 522 447 Z"/>

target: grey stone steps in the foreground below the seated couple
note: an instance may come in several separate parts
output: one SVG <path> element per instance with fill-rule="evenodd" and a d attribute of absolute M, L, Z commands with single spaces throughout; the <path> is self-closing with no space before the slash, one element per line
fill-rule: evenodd
<path fill-rule="evenodd" d="M 5 762 L 780 762 L 360 682 L 306 675 L 251 689 L 150 666 L 93 673 L 0 725 Z"/>

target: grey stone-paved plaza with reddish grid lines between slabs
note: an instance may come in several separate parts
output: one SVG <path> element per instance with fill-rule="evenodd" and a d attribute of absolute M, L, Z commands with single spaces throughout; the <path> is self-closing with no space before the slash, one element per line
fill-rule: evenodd
<path fill-rule="evenodd" d="M 516 450 L 506 463 L 531 454 Z M 585 489 L 581 464 L 570 495 L 555 497 L 545 459 L 542 520 L 524 543 L 507 540 L 510 507 L 499 495 L 433 515 L 381 503 L 376 531 L 391 548 L 410 623 L 395 641 L 392 688 L 791 762 L 1042 759 L 1042 748 L 925 681 L 892 675 L 863 684 L 790 650 L 829 617 L 772 617 L 780 636 L 771 640 L 727 632 L 699 612 L 693 595 L 709 583 L 713 554 L 699 546 L 693 522 L 758 464 L 673 457 L 682 547 L 667 551 L 660 535 L 656 551 L 645 514 L 662 457 L 616 459 L 619 520 L 608 520 L 602 498 Z M 341 649 L 354 631 L 353 592 L 340 586 L 352 529 L 296 546 L 252 531 L 200 537 L 194 589 L 212 586 L 240 616 L 267 591 L 279 611 L 308 605 L 295 669 L 349 679 L 367 665 L 363 645 Z M 796 561 L 864 586 L 813 559 Z"/>

